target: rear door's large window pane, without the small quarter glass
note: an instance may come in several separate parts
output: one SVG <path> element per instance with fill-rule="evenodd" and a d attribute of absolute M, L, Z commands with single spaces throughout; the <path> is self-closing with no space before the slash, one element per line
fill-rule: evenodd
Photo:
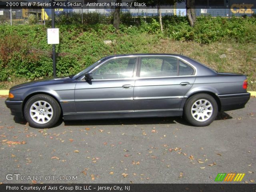
<path fill-rule="evenodd" d="M 176 58 L 141 58 L 140 77 L 177 76 Z"/>

